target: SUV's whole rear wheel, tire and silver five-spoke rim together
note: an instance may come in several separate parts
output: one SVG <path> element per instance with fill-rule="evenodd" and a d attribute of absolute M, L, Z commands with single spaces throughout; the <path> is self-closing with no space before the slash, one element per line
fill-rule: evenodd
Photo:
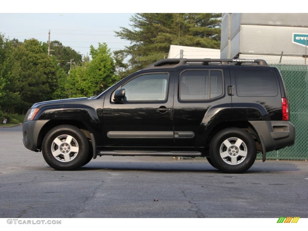
<path fill-rule="evenodd" d="M 210 144 L 213 165 L 225 173 L 247 171 L 256 160 L 253 138 L 239 128 L 227 128 L 217 133 Z"/>

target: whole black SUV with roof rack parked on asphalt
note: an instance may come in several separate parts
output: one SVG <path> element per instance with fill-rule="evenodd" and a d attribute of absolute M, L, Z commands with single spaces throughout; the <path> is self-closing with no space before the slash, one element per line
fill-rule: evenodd
<path fill-rule="evenodd" d="M 97 97 L 35 103 L 26 148 L 52 168 L 97 156 L 206 157 L 227 173 L 294 144 L 280 72 L 264 60 L 163 59 Z"/>

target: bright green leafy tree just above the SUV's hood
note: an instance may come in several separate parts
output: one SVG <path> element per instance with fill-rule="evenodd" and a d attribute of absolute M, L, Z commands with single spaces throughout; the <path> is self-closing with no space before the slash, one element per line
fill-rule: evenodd
<path fill-rule="evenodd" d="M 92 60 L 71 69 L 67 91 L 70 97 L 97 95 L 119 80 L 115 75 L 115 64 L 106 43 L 99 43 L 97 49 L 90 47 Z"/>

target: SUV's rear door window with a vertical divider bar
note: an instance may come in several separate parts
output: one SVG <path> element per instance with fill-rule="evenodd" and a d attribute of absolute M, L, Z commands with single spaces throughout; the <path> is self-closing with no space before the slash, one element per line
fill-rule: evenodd
<path fill-rule="evenodd" d="M 184 71 L 180 75 L 181 100 L 208 100 L 222 93 L 221 71 Z"/>

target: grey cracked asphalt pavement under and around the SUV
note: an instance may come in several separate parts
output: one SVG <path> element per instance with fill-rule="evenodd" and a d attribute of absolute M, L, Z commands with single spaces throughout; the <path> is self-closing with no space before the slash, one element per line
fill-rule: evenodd
<path fill-rule="evenodd" d="M 0 218 L 308 217 L 308 161 L 257 160 L 224 174 L 206 159 L 103 156 L 56 171 L 0 128 Z"/>

